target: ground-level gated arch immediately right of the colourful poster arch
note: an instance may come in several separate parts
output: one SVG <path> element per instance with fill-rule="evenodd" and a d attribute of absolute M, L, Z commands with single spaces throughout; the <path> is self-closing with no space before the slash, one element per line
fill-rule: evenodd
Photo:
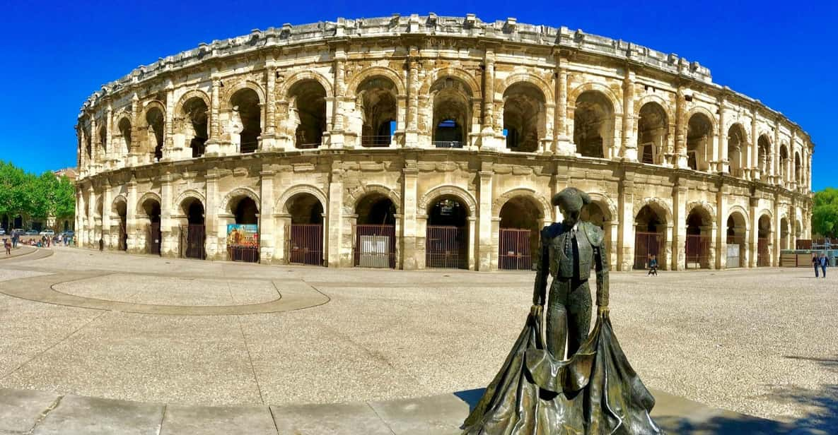
<path fill-rule="evenodd" d="M 323 266 L 323 204 L 310 193 L 291 197 L 286 209 L 291 215 L 287 228 L 288 261 L 292 264 Z"/>

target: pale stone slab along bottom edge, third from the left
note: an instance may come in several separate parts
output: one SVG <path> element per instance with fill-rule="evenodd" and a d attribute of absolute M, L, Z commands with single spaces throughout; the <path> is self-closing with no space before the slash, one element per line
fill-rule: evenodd
<path fill-rule="evenodd" d="M 276 435 L 268 407 L 168 405 L 159 435 Z"/>

